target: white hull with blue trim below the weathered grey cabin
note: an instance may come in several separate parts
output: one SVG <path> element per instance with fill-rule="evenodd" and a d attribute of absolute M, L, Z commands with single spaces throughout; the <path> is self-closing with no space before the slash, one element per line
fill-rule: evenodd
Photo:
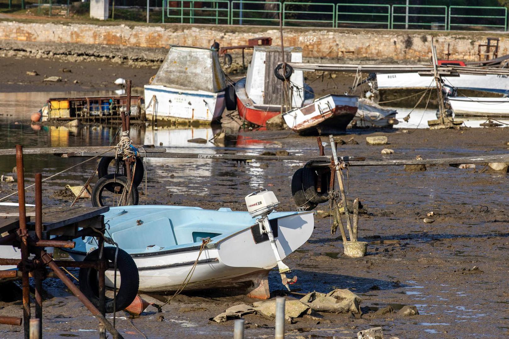
<path fill-rule="evenodd" d="M 224 91 L 183 90 L 163 85 L 146 85 L 149 98 L 145 112 L 147 119 L 218 121 L 226 107 Z"/>

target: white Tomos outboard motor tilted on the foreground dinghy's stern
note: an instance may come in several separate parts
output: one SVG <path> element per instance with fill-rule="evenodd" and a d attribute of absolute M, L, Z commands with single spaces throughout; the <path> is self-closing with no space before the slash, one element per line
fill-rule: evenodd
<path fill-rule="evenodd" d="M 277 251 L 276 239 L 274 233 L 270 227 L 268 215 L 279 205 L 274 192 L 262 189 L 260 191 L 253 192 L 245 197 L 247 211 L 253 218 L 258 218 L 256 221 L 260 226 L 260 233 L 267 233 L 270 241 L 270 246 L 276 257 L 277 268 L 279 268 L 279 274 L 281 275 L 281 282 L 290 291 L 288 284 L 294 284 L 297 281 L 297 276 L 294 276 L 292 280 L 288 280 L 286 272 L 290 272 L 290 268 L 282 262 L 279 252 Z"/>

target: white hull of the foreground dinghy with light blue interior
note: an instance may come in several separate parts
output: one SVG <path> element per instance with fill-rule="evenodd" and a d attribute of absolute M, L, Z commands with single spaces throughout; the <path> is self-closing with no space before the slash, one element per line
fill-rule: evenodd
<path fill-rule="evenodd" d="M 201 210 L 196 210 L 200 213 Z M 216 212 L 220 213 L 220 211 Z M 239 213 L 239 212 L 233 212 Z M 247 212 L 241 212 L 246 213 Z M 281 259 L 297 250 L 311 236 L 314 229 L 313 212 L 274 213 L 271 227 Z M 237 215 L 237 214 L 236 214 Z M 200 217 L 201 218 L 201 217 Z M 243 218 L 240 214 L 238 218 Z M 249 220 L 251 218 L 249 217 Z M 254 219 L 252 221 L 254 223 Z M 110 232 L 115 239 L 115 226 Z M 85 242 L 79 242 L 73 250 L 67 250 L 76 261 L 81 261 L 91 250 Z M 122 241 L 119 242 L 122 248 Z M 277 265 L 266 234 L 260 234 L 258 224 L 239 229 L 224 238 L 213 241 L 200 254 L 200 245 L 192 243 L 174 250 L 163 252 L 130 253 L 139 271 L 139 291 L 170 293 L 179 289 L 196 262 L 194 272 L 186 284 L 186 291 L 209 289 L 241 290 L 248 294 L 268 297 L 266 276 Z M 264 279 L 265 277 L 265 279 Z M 265 282 L 264 282 L 265 280 Z M 114 271 L 106 272 L 106 284 L 112 287 Z M 120 284 L 117 275 L 117 284 Z M 266 286 L 260 293 L 260 286 Z M 256 292 L 258 290 L 258 292 Z"/>

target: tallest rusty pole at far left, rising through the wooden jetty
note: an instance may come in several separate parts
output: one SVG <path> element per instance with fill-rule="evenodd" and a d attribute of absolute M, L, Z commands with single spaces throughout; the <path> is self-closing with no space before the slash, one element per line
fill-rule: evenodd
<path fill-rule="evenodd" d="M 30 282 L 26 261 L 29 259 L 29 249 L 26 233 L 26 210 L 25 210 L 25 178 L 23 170 L 23 146 L 16 145 L 16 172 L 18 175 L 18 206 L 19 206 L 19 230 L 21 238 L 21 272 L 23 287 L 23 329 L 25 339 L 30 333 Z"/>

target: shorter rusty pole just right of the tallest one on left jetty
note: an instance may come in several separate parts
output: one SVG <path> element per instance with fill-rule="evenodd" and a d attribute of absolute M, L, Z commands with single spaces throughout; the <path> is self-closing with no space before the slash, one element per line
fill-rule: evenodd
<path fill-rule="evenodd" d="M 35 234 L 38 240 L 42 240 L 42 176 L 35 174 Z M 42 338 L 42 281 L 45 268 L 37 269 L 35 273 L 35 318 L 30 320 L 30 337 L 32 338 L 32 327 L 38 330 L 34 338 Z M 37 322 L 37 325 L 32 325 Z M 35 334 L 34 334 L 35 335 Z"/>

